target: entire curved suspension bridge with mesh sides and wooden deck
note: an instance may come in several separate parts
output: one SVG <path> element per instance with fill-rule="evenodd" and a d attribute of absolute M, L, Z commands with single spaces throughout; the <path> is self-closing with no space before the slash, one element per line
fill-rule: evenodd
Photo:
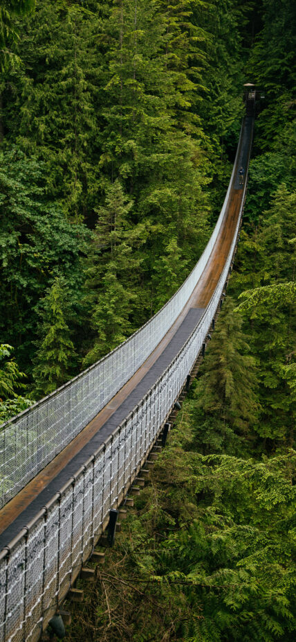
<path fill-rule="evenodd" d="M 176 295 L 107 357 L 3 426 L 0 642 L 39 639 L 192 371 L 233 261 L 253 123 L 252 114 L 243 119 L 219 220 Z"/>

